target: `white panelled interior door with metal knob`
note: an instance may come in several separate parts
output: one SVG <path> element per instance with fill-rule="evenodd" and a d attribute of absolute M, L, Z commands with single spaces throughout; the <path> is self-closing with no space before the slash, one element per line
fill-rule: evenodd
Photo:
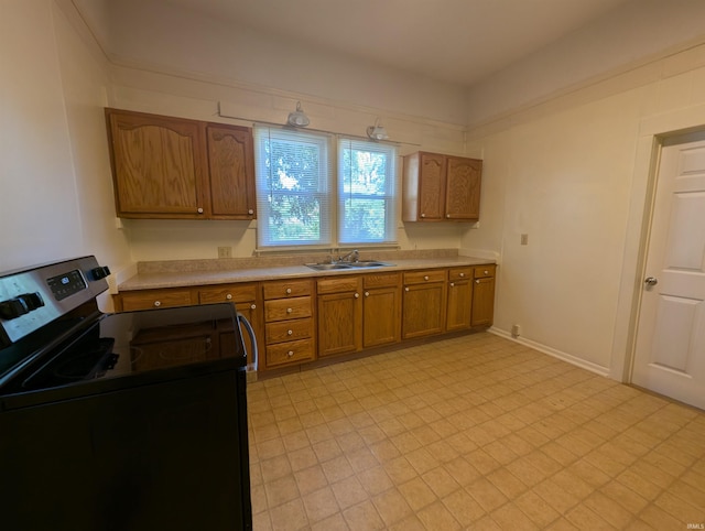
<path fill-rule="evenodd" d="M 632 382 L 705 409 L 703 140 L 662 150 L 646 271 Z"/>

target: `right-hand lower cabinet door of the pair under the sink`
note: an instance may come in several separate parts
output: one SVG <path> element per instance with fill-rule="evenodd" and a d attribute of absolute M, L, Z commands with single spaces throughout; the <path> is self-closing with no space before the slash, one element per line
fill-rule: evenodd
<path fill-rule="evenodd" d="M 401 286 L 365 290 L 362 300 L 362 346 L 389 345 L 401 340 Z"/>

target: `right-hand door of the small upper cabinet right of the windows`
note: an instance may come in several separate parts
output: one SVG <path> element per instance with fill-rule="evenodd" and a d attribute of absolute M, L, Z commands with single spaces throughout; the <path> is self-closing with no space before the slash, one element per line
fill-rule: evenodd
<path fill-rule="evenodd" d="M 446 219 L 478 219 L 482 161 L 459 156 L 448 156 L 446 160 Z"/>

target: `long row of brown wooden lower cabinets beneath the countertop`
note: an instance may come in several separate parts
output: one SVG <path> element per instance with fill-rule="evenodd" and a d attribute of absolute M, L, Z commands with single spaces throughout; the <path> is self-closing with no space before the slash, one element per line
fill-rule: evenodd
<path fill-rule="evenodd" d="M 230 302 L 252 324 L 259 370 L 268 370 L 406 339 L 488 327 L 494 317 L 495 273 L 495 264 L 405 272 L 377 270 L 128 291 L 115 299 L 118 311 Z M 224 325 L 207 334 L 180 334 L 164 340 L 180 340 L 184 348 L 199 348 L 210 355 L 231 348 L 235 338 L 231 327 Z M 245 332 L 242 337 L 251 364 L 252 345 Z"/>

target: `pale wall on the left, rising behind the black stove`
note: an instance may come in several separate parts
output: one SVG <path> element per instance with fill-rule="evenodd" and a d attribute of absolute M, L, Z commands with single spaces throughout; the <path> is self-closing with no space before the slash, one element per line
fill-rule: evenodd
<path fill-rule="evenodd" d="M 0 1 L 0 271 L 79 254 L 130 263 L 111 226 L 105 59 L 59 4 Z"/>

